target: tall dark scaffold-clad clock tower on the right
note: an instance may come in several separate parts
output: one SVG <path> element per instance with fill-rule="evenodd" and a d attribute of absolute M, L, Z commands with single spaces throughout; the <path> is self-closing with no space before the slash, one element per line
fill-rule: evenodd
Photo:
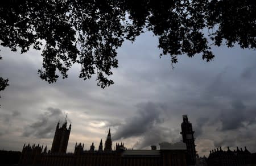
<path fill-rule="evenodd" d="M 192 124 L 188 121 L 188 116 L 183 115 L 183 122 L 181 123 L 181 132 L 183 142 L 187 146 L 187 164 L 196 164 L 196 146 L 194 132 L 192 129 Z"/>

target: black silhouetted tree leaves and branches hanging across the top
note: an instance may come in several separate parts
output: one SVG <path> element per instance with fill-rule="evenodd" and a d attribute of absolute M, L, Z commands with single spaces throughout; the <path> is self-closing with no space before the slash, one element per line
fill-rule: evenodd
<path fill-rule="evenodd" d="M 113 84 L 108 76 L 118 67 L 117 48 L 144 31 L 158 37 L 160 56 L 170 55 L 171 64 L 183 54 L 210 61 L 211 45 L 256 47 L 254 0 L 8 2 L 0 7 L 1 45 L 21 53 L 43 48 L 38 73 L 49 83 L 68 77 L 77 63 L 80 78 L 97 74 L 102 88 Z"/>

